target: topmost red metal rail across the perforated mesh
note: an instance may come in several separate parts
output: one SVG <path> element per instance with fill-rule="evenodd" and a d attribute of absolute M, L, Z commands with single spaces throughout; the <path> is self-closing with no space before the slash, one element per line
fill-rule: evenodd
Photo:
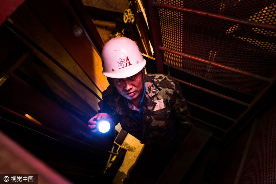
<path fill-rule="evenodd" d="M 192 10 L 192 9 L 183 8 L 183 7 L 179 7 L 179 6 L 167 5 L 167 4 L 160 3 L 160 2 L 153 3 L 153 6 L 157 7 L 157 8 L 164 8 L 167 10 L 173 10 L 173 11 L 178 11 L 178 12 L 182 12 L 182 13 L 189 13 L 189 14 L 193 14 L 193 15 L 197 15 L 197 16 L 201 16 L 201 17 L 217 19 L 217 20 L 222 20 L 222 21 L 227 21 L 227 22 L 233 22 L 235 24 L 242 24 L 242 25 L 247 25 L 247 26 L 251 26 L 251 27 L 276 31 L 276 26 L 271 25 L 271 24 L 247 21 L 247 20 L 240 19 L 240 18 L 227 17 L 224 15 L 218 15 L 218 14 L 209 13 L 209 12 L 197 11 L 197 10 Z"/>

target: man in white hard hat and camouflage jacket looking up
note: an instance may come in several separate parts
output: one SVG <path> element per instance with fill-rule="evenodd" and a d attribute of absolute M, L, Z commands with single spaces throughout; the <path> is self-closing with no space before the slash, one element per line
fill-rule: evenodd
<path fill-rule="evenodd" d="M 97 121 L 108 120 L 144 144 L 173 146 L 179 131 L 192 128 L 190 112 L 177 82 L 161 74 L 145 75 L 137 45 L 126 37 L 109 40 L 102 50 L 103 75 L 110 86 L 98 103 L 100 113 L 89 120 L 96 132 Z"/>

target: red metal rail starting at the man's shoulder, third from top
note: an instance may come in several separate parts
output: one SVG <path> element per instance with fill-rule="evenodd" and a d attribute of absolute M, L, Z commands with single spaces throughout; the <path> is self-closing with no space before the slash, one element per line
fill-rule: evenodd
<path fill-rule="evenodd" d="M 166 75 L 166 74 L 164 74 L 164 75 Z M 166 75 L 166 76 L 168 76 L 168 75 Z M 171 76 L 168 76 L 168 77 L 171 77 Z M 216 92 L 214 92 L 214 91 L 205 89 L 205 88 L 200 87 L 200 86 L 196 86 L 196 85 L 194 85 L 194 84 L 191 84 L 191 83 L 189 83 L 189 82 L 182 81 L 182 80 L 180 80 L 180 79 L 176 79 L 176 78 L 174 78 L 174 77 L 171 77 L 171 78 L 174 79 L 174 80 L 177 81 L 177 82 L 181 82 L 181 83 L 183 83 L 183 84 L 185 84 L 185 85 L 187 85 L 187 86 L 194 87 L 194 88 L 196 88 L 196 89 L 198 89 L 198 90 L 205 91 L 205 92 L 207 92 L 207 93 L 210 93 L 210 94 L 216 95 L 216 96 L 218 96 L 218 97 L 221 97 L 221 98 L 230 100 L 230 101 L 235 102 L 235 103 L 238 103 L 238 104 L 240 104 L 240 105 L 244 105 L 244 106 L 247 106 L 247 107 L 249 106 L 248 103 L 242 102 L 242 101 L 240 101 L 240 100 L 237 100 L 237 99 L 234 99 L 234 98 L 225 96 L 225 95 L 223 95 L 223 94 L 216 93 Z"/>

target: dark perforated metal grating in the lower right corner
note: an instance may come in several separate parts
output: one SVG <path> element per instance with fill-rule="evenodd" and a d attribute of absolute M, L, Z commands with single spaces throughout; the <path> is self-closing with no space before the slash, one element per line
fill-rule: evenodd
<path fill-rule="evenodd" d="M 276 184 L 276 105 L 260 118 L 239 184 Z"/>

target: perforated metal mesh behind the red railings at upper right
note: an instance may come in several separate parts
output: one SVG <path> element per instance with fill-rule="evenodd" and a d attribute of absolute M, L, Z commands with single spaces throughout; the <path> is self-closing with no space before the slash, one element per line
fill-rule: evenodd
<path fill-rule="evenodd" d="M 159 0 L 173 6 L 276 25 L 275 1 Z M 159 9 L 163 47 L 270 78 L 276 68 L 276 33 Z M 255 94 L 263 81 L 164 52 L 164 63 Z"/>

